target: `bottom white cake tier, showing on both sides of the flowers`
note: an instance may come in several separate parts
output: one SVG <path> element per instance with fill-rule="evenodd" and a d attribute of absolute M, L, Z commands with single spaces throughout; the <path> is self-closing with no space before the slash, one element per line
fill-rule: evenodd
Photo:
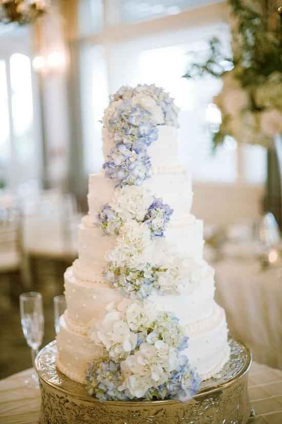
<path fill-rule="evenodd" d="M 211 378 L 220 372 L 230 355 L 225 311 L 214 303 L 210 317 L 187 327 L 189 347 L 184 353 L 202 380 Z M 100 349 L 77 330 L 66 311 L 61 317 L 61 330 L 57 336 L 57 366 L 72 380 L 84 383 L 87 364 L 99 358 Z"/>

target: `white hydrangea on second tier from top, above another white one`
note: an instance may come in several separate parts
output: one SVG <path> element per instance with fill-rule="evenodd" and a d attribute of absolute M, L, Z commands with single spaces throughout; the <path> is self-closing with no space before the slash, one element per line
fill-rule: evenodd
<path fill-rule="evenodd" d="M 110 206 L 123 220 L 143 221 L 152 202 L 153 196 L 148 190 L 137 186 L 124 186 L 114 191 Z"/>

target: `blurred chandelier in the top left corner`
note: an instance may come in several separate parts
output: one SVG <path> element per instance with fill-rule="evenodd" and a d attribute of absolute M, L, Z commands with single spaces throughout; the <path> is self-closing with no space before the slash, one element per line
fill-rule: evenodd
<path fill-rule="evenodd" d="M 43 15 L 47 8 L 47 0 L 0 0 L 0 22 L 30 24 Z"/>

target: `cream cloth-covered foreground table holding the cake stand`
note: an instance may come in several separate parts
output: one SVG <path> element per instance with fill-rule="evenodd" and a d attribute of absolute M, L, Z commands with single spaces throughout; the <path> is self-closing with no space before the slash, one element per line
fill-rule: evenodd
<path fill-rule="evenodd" d="M 40 392 L 25 383 L 31 373 L 26 370 L 0 381 L 0 424 L 37 424 Z M 281 424 L 282 371 L 254 362 L 249 393 L 257 414 L 250 424 Z"/>

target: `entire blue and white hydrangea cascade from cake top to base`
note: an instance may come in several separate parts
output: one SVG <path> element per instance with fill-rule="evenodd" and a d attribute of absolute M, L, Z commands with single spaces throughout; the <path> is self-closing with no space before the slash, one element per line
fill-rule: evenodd
<path fill-rule="evenodd" d="M 86 383 L 101 401 L 186 401 L 199 388 L 197 371 L 182 353 L 188 347 L 185 329 L 174 314 L 152 308 L 148 300 L 154 293 L 177 294 L 184 280 L 193 284 L 188 260 L 170 252 L 155 254 L 173 210 L 142 187 L 151 175 L 147 149 L 158 138 L 158 125 L 177 126 L 177 114 L 173 99 L 154 85 L 122 87 L 105 111 L 103 168 L 115 191 L 94 225 L 116 237 L 104 278 L 124 300 L 109 304 L 104 320 L 89 328 L 103 354 L 89 364 Z"/>

